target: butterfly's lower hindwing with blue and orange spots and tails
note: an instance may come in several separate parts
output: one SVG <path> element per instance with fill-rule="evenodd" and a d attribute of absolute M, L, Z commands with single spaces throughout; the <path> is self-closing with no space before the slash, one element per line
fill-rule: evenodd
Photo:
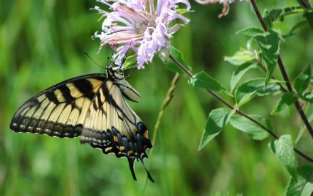
<path fill-rule="evenodd" d="M 105 154 L 126 157 L 136 179 L 134 160 L 147 158 L 146 149 L 152 148 L 152 144 L 147 138 L 147 127 L 125 102 L 123 94 L 118 83 L 102 84 L 90 105 L 80 142 L 100 148 Z"/>

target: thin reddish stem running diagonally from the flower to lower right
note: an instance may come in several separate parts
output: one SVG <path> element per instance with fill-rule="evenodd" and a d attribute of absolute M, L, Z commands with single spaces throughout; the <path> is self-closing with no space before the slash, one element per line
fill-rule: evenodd
<path fill-rule="evenodd" d="M 174 56 L 171 56 L 171 54 L 169 55 L 169 58 L 171 58 L 171 61 L 173 61 L 176 66 L 178 66 L 182 71 L 184 71 L 184 73 L 186 73 L 187 76 L 189 76 L 189 78 L 193 77 L 193 74 L 188 71 L 183 65 L 181 65 L 181 63 L 179 63 L 179 61 L 176 60 L 176 58 L 174 58 Z M 239 110 L 238 108 L 235 108 L 233 105 L 231 105 L 230 103 L 228 103 L 226 100 L 224 100 L 223 98 L 221 98 L 221 96 L 218 96 L 218 94 L 216 94 L 215 92 L 206 89 L 206 91 L 208 93 L 210 93 L 214 98 L 217 98 L 219 101 L 221 101 L 221 103 L 223 103 L 224 105 L 226 105 L 228 108 L 230 108 L 231 110 L 235 110 L 236 113 L 242 115 L 243 117 L 247 118 L 248 120 L 252 121 L 253 123 L 257 124 L 260 126 L 260 128 L 262 128 L 263 130 L 265 130 L 267 133 L 269 133 L 270 135 L 272 135 L 273 138 L 277 139 L 278 136 L 272 132 L 272 130 L 268 129 L 267 127 L 265 127 L 264 125 L 262 125 L 258 120 L 255 120 L 254 118 L 252 118 L 250 115 L 244 113 L 243 111 Z M 300 150 L 298 150 L 297 148 L 294 148 L 295 152 L 302 156 L 302 158 L 308 160 L 309 162 L 313 163 L 313 159 L 309 158 L 307 155 L 305 155 L 304 153 L 302 153 Z"/>

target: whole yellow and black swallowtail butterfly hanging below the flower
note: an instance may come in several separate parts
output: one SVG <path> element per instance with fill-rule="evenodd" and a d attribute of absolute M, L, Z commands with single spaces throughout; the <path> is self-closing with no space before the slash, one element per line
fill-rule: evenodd
<path fill-rule="evenodd" d="M 126 157 L 136 180 L 134 160 L 143 163 L 152 144 L 146 125 L 124 98 L 139 102 L 140 96 L 124 79 L 122 70 L 108 67 L 107 76 L 79 76 L 38 93 L 16 111 L 10 128 L 58 138 L 80 137 L 80 143 L 100 148 L 105 154 Z"/>

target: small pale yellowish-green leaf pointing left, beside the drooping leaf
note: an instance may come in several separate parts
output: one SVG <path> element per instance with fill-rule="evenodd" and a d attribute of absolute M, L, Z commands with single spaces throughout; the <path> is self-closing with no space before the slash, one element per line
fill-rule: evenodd
<path fill-rule="evenodd" d="M 235 66 L 239 66 L 243 63 L 248 63 L 257 58 L 254 51 L 240 48 L 240 51 L 236 52 L 233 56 L 225 56 L 224 61 L 228 61 Z"/>

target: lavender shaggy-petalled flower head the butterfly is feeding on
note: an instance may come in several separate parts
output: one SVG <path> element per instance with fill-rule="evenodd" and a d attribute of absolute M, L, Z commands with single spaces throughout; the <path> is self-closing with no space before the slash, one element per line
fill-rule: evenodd
<path fill-rule="evenodd" d="M 100 38 L 101 46 L 109 44 L 117 47 L 114 56 L 115 63 L 120 65 L 129 48 L 137 53 L 138 68 L 144 68 L 144 63 L 152 61 L 155 53 L 161 48 L 169 48 L 169 39 L 184 24 L 189 23 L 177 13 L 179 4 L 190 11 L 188 0 L 113 0 L 100 1 L 109 6 L 111 11 L 95 9 L 105 17 L 102 31 L 95 33 Z M 182 21 L 182 24 L 176 24 Z"/>

